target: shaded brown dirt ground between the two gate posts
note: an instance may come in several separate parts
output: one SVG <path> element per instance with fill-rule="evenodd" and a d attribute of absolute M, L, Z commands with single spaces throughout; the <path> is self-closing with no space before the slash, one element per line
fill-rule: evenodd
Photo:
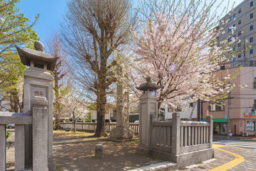
<path fill-rule="evenodd" d="M 7 150 L 7 170 L 14 169 L 14 129 L 10 131 L 13 142 Z M 137 153 L 138 140 L 131 142 L 112 142 L 92 138 L 93 133 L 77 131 L 54 131 L 53 154 L 57 171 L 63 170 L 129 170 L 162 162 L 159 158 L 148 158 Z M 104 147 L 103 158 L 95 158 L 95 145 Z"/>

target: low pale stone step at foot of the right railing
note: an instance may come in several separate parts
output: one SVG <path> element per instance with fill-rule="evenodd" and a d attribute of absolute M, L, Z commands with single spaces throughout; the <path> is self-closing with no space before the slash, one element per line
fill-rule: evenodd
<path fill-rule="evenodd" d="M 175 170 L 176 169 L 177 163 L 173 163 L 172 161 L 164 161 L 161 163 L 156 163 L 154 165 L 148 165 L 145 167 L 139 167 L 139 168 L 134 168 L 129 171 L 170 171 L 170 170 Z"/>

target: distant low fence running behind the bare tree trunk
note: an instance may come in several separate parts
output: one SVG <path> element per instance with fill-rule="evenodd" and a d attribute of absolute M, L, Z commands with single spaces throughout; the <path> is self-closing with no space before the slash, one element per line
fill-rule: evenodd
<path fill-rule="evenodd" d="M 73 123 L 60 123 L 61 128 L 66 130 L 67 128 L 73 128 Z M 105 123 L 106 131 L 110 132 L 116 127 L 116 123 Z M 138 123 L 129 123 L 129 127 L 132 128 L 135 134 L 139 133 Z M 76 130 L 79 131 L 95 131 L 96 123 L 76 123 Z"/>

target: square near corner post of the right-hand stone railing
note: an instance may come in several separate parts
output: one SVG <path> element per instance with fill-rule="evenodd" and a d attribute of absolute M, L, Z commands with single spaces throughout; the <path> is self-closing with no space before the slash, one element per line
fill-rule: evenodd
<path fill-rule="evenodd" d="M 172 154 L 180 154 L 180 114 L 172 114 Z"/>

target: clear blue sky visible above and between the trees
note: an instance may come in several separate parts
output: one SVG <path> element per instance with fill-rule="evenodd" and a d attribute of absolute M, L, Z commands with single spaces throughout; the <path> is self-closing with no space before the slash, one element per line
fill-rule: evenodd
<path fill-rule="evenodd" d="M 243 0 L 237 0 L 235 6 L 242 1 Z M 134 3 L 137 3 L 137 0 L 134 0 Z M 230 6 L 233 3 L 234 0 L 230 0 Z M 36 16 L 37 13 L 40 13 L 40 19 L 34 29 L 40 41 L 45 43 L 45 41 L 49 40 L 54 31 L 60 29 L 59 22 L 63 21 L 63 15 L 67 8 L 66 4 L 66 0 L 23 0 L 18 4 L 18 7 L 20 11 L 24 13 L 25 17 L 30 20 L 33 20 L 33 17 Z M 224 0 L 223 5 L 227 6 L 227 4 L 228 0 Z"/>

